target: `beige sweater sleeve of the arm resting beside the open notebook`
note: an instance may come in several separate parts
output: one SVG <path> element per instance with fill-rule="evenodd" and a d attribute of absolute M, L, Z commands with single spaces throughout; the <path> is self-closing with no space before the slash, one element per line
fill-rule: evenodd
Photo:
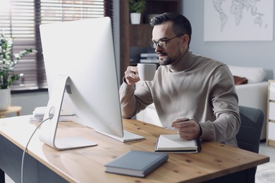
<path fill-rule="evenodd" d="M 221 66 L 213 75 L 209 101 L 212 103 L 216 120 L 202 122 L 200 125 L 202 139 L 235 146 L 236 134 L 240 128 L 240 115 L 238 95 L 231 76 L 226 65 Z"/>

